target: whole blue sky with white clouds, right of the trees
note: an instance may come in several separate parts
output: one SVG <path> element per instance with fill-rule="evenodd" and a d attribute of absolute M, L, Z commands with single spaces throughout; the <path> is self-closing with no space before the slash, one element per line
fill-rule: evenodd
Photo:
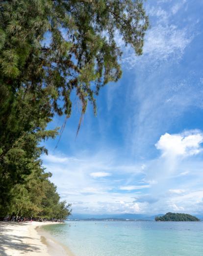
<path fill-rule="evenodd" d="M 123 77 L 80 103 L 43 166 L 73 213 L 203 213 L 203 1 L 148 0 L 142 56 L 125 47 Z M 48 128 L 59 127 L 55 117 Z M 57 145 L 57 148 L 55 148 Z"/>

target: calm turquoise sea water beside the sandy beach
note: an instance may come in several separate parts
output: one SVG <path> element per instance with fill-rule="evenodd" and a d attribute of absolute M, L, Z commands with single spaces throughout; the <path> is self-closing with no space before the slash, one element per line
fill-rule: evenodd
<path fill-rule="evenodd" d="M 203 256 L 203 222 L 72 221 L 43 228 L 76 256 Z"/>

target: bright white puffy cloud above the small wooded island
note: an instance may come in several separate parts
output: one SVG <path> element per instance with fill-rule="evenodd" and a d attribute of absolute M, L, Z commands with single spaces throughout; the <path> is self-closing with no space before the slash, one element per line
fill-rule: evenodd
<path fill-rule="evenodd" d="M 155 144 L 162 155 L 189 156 L 202 151 L 203 134 L 200 131 L 187 131 L 180 134 L 165 133 Z"/>

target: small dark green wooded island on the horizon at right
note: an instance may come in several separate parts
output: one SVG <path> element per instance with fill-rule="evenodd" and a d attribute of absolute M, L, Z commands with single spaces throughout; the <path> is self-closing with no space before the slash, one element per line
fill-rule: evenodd
<path fill-rule="evenodd" d="M 200 221 L 200 219 L 186 213 L 167 212 L 163 216 L 155 217 L 155 221 Z"/>

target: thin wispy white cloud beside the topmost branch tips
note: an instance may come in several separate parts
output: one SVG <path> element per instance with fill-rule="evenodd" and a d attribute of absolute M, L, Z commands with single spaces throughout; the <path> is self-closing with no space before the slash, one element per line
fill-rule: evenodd
<path fill-rule="evenodd" d="M 124 49 L 123 62 L 127 69 L 140 64 L 150 64 L 150 67 L 160 65 L 168 59 L 177 61 L 184 53 L 185 48 L 194 38 L 195 25 L 177 26 L 174 22 L 178 10 L 184 5 L 185 0 L 175 3 L 171 8 L 163 9 L 159 4 L 147 5 L 147 14 L 150 17 L 151 28 L 146 32 L 143 55 L 139 58 L 134 57 L 134 52 L 130 47 L 125 47 L 121 39 L 117 36 L 116 41 Z M 118 38 L 118 39 L 117 39 Z"/>

